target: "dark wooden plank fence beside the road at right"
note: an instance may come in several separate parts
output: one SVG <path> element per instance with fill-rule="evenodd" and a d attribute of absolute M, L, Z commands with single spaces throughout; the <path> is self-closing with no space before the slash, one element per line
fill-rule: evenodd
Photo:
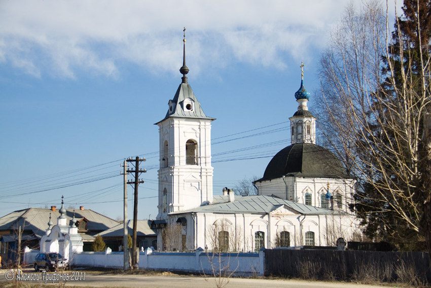
<path fill-rule="evenodd" d="M 414 274 L 421 283 L 431 283 L 429 265 L 426 252 L 265 250 L 265 275 L 350 280 L 364 274 L 389 282 Z"/>

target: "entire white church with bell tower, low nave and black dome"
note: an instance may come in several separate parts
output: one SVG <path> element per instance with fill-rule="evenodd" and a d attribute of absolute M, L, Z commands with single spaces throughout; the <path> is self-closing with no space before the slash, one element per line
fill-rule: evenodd
<path fill-rule="evenodd" d="M 310 94 L 295 93 L 298 111 L 290 118 L 292 143 L 269 162 L 255 182 L 257 196 L 237 196 L 232 189 L 213 196 L 211 122 L 188 83 L 182 83 L 159 126 L 158 247 L 194 250 L 258 251 L 277 246 L 334 246 L 361 236 L 348 204 L 355 181 L 329 150 L 316 145 Z M 303 66 L 301 66 L 303 67 Z M 172 243 L 174 247 L 172 247 Z M 169 246 L 169 247 L 168 247 Z"/>

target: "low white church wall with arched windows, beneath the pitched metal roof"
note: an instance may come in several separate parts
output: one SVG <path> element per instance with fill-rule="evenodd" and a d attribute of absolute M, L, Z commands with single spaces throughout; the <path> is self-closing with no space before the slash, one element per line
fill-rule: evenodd
<path fill-rule="evenodd" d="M 336 211 L 335 211 L 336 212 Z M 235 241 L 240 251 L 255 251 L 256 233 L 264 233 L 265 248 L 274 248 L 277 233 L 289 232 L 290 246 L 306 245 L 306 233 L 314 233 L 314 245 L 335 245 L 339 237 L 346 241 L 353 240 L 360 234 L 359 223 L 352 215 L 299 215 L 299 214 L 251 214 L 251 213 L 197 213 L 196 237 L 190 237 L 188 247 L 207 248 L 212 250 L 211 227 L 218 221 L 225 220 L 225 231 L 229 232 L 230 240 Z M 219 229 L 220 230 L 220 229 Z M 191 231 L 191 233 L 193 233 Z M 189 239 L 189 238 L 188 238 Z M 194 241 L 196 240 L 197 246 Z M 232 243 L 230 243 L 231 245 Z M 232 244 L 233 245 L 233 244 Z"/>

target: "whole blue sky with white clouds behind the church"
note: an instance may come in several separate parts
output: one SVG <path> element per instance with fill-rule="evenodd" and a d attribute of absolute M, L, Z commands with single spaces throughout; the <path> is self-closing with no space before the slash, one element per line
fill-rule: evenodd
<path fill-rule="evenodd" d="M 148 170 L 138 217 L 157 215 L 154 123 L 181 83 L 184 26 L 189 83 L 217 118 L 214 195 L 261 177 L 290 144 L 301 61 L 312 106 L 320 53 L 346 4 L 0 1 L 0 216 L 60 206 L 64 195 L 66 207 L 122 217 L 120 164 L 136 155 Z"/>

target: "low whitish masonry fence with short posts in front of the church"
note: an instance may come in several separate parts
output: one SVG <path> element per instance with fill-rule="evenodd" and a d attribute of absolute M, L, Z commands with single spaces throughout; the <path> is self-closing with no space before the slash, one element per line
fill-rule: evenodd
<path fill-rule="evenodd" d="M 39 250 L 24 249 L 24 264 L 32 264 Z M 264 251 L 259 253 L 206 253 L 198 248 L 194 252 L 156 252 L 151 248 L 139 252 L 139 268 L 163 271 L 184 271 L 212 275 L 220 273 L 221 267 L 226 273 L 234 275 L 263 275 Z M 71 265 L 123 268 L 123 252 L 79 252 L 71 259 Z M 214 270 L 213 270 L 214 269 Z"/>

